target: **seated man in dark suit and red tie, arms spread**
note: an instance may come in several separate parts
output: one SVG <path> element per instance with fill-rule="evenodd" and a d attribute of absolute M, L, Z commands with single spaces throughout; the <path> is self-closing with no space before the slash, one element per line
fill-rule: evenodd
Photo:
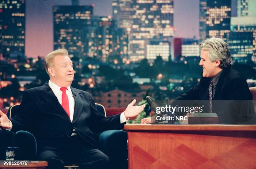
<path fill-rule="evenodd" d="M 123 113 L 104 117 L 90 93 L 70 86 L 74 79 L 72 66 L 67 50 L 49 53 L 45 57 L 49 82 L 23 92 L 17 116 L 9 120 L 0 112 L 0 126 L 33 133 L 38 160 L 47 161 L 48 168 L 60 169 L 70 162 L 81 164 L 81 168 L 108 169 L 109 158 L 98 149 L 95 133 L 122 129 L 126 120 L 135 118 L 145 105 L 133 106 L 133 100 Z"/>

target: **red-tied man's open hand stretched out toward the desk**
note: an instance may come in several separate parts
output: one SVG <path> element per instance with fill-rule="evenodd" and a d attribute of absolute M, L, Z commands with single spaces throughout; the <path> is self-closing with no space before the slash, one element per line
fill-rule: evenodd
<path fill-rule="evenodd" d="M 124 111 L 124 115 L 126 119 L 135 119 L 138 114 L 140 114 L 144 107 L 146 106 L 145 104 L 141 106 L 133 106 L 136 103 L 136 99 L 134 99 L 128 106 L 126 107 Z"/>

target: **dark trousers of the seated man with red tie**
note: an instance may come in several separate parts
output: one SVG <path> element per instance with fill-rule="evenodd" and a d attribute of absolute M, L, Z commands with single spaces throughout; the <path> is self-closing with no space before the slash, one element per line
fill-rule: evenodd
<path fill-rule="evenodd" d="M 67 146 L 61 149 L 38 149 L 37 159 L 47 161 L 48 169 L 63 169 L 64 164 L 76 164 L 80 169 L 110 168 L 108 156 L 78 135 L 70 137 Z"/>

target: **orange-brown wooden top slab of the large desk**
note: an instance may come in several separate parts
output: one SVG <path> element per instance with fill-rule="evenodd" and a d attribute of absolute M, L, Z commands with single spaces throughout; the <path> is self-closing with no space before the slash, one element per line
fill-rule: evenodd
<path fill-rule="evenodd" d="M 222 124 L 125 124 L 127 131 L 254 131 L 256 125 L 222 125 Z"/>

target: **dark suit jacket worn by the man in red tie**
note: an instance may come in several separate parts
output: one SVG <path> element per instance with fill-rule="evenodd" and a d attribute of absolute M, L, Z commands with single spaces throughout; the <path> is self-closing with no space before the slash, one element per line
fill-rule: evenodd
<path fill-rule="evenodd" d="M 34 134 L 38 148 L 64 147 L 73 129 L 85 142 L 97 147 L 95 132 L 122 129 L 120 114 L 104 117 L 97 111 L 92 95 L 71 87 L 75 100 L 73 122 L 46 82 L 23 93 L 20 113 L 10 118 L 12 131 L 25 129 Z"/>

